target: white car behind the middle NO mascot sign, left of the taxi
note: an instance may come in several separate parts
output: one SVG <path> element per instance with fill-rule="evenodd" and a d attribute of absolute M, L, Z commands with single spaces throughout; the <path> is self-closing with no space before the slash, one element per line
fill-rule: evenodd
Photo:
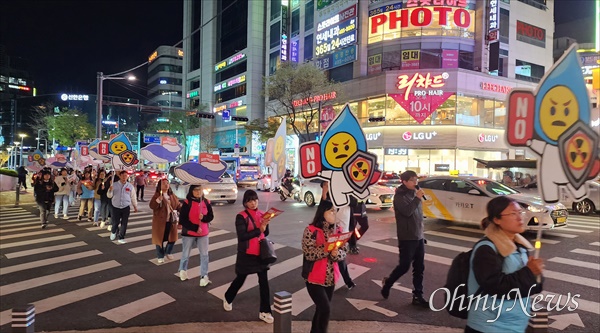
<path fill-rule="evenodd" d="M 321 183 L 321 180 L 316 179 L 301 181 L 300 198 L 308 207 L 321 201 Z M 394 205 L 394 190 L 377 184 L 369 186 L 369 190 L 371 195 L 365 200 L 367 208 L 386 210 Z"/>

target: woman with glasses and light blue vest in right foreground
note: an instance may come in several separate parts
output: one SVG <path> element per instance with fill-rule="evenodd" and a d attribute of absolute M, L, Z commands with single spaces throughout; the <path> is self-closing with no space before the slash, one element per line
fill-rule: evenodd
<path fill-rule="evenodd" d="M 469 295 L 487 298 L 488 305 L 484 310 L 483 301 L 477 307 L 477 302 L 470 304 L 465 332 L 525 332 L 527 328 L 529 297 L 542 291 L 537 279 L 544 264 L 528 255 L 533 247 L 520 235 L 526 227 L 523 213 L 519 203 L 507 196 L 487 204 L 487 216 L 481 221 L 485 237 L 473 249 L 467 286 Z M 490 306 L 490 300 L 495 304 Z"/>

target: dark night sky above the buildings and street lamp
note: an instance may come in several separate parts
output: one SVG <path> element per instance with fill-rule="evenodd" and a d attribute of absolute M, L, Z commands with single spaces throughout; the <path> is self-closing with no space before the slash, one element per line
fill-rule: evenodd
<path fill-rule="evenodd" d="M 594 1 L 556 1 L 555 12 L 557 24 L 592 16 Z M 121 72 L 177 44 L 182 17 L 183 0 L 1 0 L 0 44 L 27 60 L 38 95 L 95 94 L 96 72 Z M 144 98 L 146 72 L 135 72 L 141 88 L 123 92 L 117 83 L 125 81 L 105 81 L 105 93 Z"/>

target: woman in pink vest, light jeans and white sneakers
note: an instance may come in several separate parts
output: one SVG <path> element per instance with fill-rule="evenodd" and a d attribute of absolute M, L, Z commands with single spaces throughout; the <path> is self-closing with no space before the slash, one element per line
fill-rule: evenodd
<path fill-rule="evenodd" d="M 163 180 L 165 183 L 167 180 Z M 162 183 L 162 181 L 161 181 Z M 181 224 L 181 260 L 179 261 L 179 278 L 188 279 L 187 267 L 192 247 L 200 251 L 200 287 L 211 282 L 208 279 L 208 223 L 213 220 L 212 206 L 204 198 L 202 185 L 190 185 L 186 199 L 181 206 L 179 224 Z"/>

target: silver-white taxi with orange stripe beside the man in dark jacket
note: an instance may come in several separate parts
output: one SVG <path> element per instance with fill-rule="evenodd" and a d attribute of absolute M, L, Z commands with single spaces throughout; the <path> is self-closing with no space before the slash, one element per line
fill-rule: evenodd
<path fill-rule="evenodd" d="M 525 211 L 528 229 L 544 229 L 567 225 L 567 209 L 561 204 L 545 204 L 540 197 L 518 191 L 493 180 L 471 176 L 439 176 L 419 181 L 428 200 L 423 202 L 426 217 L 479 225 L 491 198 L 508 195 Z"/>

